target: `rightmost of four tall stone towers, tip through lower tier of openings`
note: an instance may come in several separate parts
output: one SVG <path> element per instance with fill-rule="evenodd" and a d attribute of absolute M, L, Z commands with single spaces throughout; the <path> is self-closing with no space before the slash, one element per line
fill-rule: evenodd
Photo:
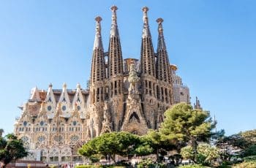
<path fill-rule="evenodd" d="M 162 28 L 162 18 L 157 19 L 158 23 L 158 44 L 157 44 L 157 80 L 161 84 L 159 91 L 157 91 L 157 99 L 165 102 L 166 104 L 173 104 L 172 98 L 172 82 L 170 72 L 170 62 L 165 46 L 165 38 Z"/>

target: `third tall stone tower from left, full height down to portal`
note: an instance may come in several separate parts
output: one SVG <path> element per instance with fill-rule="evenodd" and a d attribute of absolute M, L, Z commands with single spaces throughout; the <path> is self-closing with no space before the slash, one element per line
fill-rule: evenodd
<path fill-rule="evenodd" d="M 149 129 L 156 128 L 155 119 L 157 116 L 156 101 L 156 64 L 155 54 L 152 43 L 152 37 L 148 26 L 148 7 L 143 7 L 143 34 L 140 50 L 140 83 L 142 88 L 142 109 L 143 115 L 146 117 L 146 123 Z"/>

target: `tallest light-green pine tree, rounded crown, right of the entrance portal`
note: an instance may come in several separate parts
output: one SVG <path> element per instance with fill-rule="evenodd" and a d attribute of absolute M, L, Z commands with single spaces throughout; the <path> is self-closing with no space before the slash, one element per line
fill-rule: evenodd
<path fill-rule="evenodd" d="M 165 121 L 161 124 L 159 133 L 163 139 L 173 142 L 178 151 L 189 143 L 196 153 L 197 142 L 208 142 L 215 125 L 209 112 L 180 103 L 165 112 Z"/>

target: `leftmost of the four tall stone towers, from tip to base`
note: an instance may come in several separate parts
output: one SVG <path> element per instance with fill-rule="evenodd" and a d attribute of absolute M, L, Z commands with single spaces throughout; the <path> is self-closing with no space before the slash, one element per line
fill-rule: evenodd
<path fill-rule="evenodd" d="M 91 61 L 91 109 L 88 125 L 91 126 L 94 134 L 92 137 L 98 136 L 102 128 L 103 121 L 103 107 L 105 102 L 105 80 L 106 80 L 106 66 L 104 50 L 102 45 L 101 26 L 100 21 L 102 18 L 99 16 L 96 20 L 96 34 L 94 40 L 94 51 Z M 90 124 L 92 123 L 92 124 Z"/>

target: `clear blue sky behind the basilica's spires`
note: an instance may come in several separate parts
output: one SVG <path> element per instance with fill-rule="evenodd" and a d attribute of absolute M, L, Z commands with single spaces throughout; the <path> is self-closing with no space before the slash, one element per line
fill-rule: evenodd
<path fill-rule="evenodd" d="M 118 7 L 123 57 L 140 58 L 141 8 L 147 6 L 154 47 L 157 23 L 164 34 L 170 62 L 216 116 L 227 134 L 256 129 L 256 1 L 254 0 L 110 0 L 0 1 L 0 128 L 13 131 L 20 104 L 30 89 L 86 88 L 91 69 L 95 21 L 102 17 L 108 50 L 111 12 Z"/>

